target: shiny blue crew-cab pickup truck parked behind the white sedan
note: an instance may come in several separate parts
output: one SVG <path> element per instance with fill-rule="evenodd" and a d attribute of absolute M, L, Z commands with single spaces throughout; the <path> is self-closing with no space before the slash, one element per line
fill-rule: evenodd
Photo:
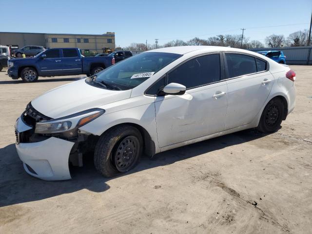
<path fill-rule="evenodd" d="M 35 82 L 38 77 L 94 75 L 115 64 L 113 57 L 83 57 L 78 48 L 48 49 L 34 58 L 10 59 L 8 76 Z"/>

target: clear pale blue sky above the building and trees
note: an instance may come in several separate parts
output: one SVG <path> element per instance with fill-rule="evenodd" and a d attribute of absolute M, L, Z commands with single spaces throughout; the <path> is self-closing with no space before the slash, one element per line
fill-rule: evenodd
<path fill-rule="evenodd" d="M 1 32 L 103 34 L 116 46 L 164 44 L 241 34 L 266 36 L 308 29 L 312 0 L 0 0 Z M 18 13 L 19 12 L 19 13 Z M 287 26 L 278 26 L 287 25 Z M 272 27 L 274 26 L 274 27 Z M 278 27 L 275 27 L 278 26 Z"/>

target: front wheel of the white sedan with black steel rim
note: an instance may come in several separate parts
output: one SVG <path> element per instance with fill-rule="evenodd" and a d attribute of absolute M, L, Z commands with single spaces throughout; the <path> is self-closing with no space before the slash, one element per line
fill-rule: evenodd
<path fill-rule="evenodd" d="M 117 126 L 98 139 L 94 165 L 102 176 L 114 177 L 133 169 L 142 151 L 143 139 L 137 128 L 129 125 Z"/>

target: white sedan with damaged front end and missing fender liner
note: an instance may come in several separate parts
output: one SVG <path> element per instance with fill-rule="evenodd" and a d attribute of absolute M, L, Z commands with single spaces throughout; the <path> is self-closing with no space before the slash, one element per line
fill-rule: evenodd
<path fill-rule="evenodd" d="M 16 122 L 17 152 L 44 180 L 70 179 L 69 163 L 82 166 L 87 152 L 100 174 L 117 176 L 143 153 L 249 128 L 277 131 L 295 106 L 295 76 L 247 50 L 147 51 L 32 100 Z"/>

